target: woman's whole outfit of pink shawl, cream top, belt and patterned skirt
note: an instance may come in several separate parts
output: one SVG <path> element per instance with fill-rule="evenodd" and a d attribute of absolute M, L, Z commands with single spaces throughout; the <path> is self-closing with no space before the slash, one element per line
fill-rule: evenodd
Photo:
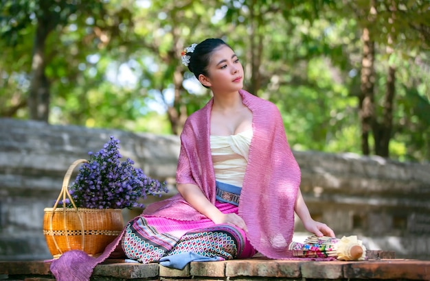
<path fill-rule="evenodd" d="M 275 104 L 245 90 L 239 93 L 242 103 L 252 112 L 252 132 L 211 138 L 211 99 L 185 122 L 176 181 L 199 186 L 221 212 L 236 212 L 245 221 L 247 234 L 233 225 L 215 225 L 177 194 L 148 205 L 97 258 L 82 251 L 69 251 L 54 260 L 50 270 L 58 281 L 70 280 L 70 276 L 89 280 L 95 265 L 121 250 L 118 246 L 133 260 L 159 260 L 178 268 L 184 265 L 175 264 L 174 257 L 180 260 L 181 255 L 188 256 L 188 260 L 220 260 L 252 256 L 258 251 L 267 258 L 293 258 L 288 245 L 294 231 L 299 166 Z M 242 138 L 247 145 L 237 145 L 244 141 Z M 231 151 L 223 152 L 229 149 L 226 143 L 234 158 L 243 158 L 246 165 L 244 160 L 240 164 L 229 158 Z M 229 174 L 233 162 L 236 170 L 232 168 Z M 239 177 L 244 168 L 245 174 Z"/>

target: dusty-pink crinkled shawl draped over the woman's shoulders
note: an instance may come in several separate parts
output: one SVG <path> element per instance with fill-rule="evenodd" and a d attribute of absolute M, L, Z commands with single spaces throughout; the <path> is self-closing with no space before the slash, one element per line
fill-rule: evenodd
<path fill-rule="evenodd" d="M 248 239 L 268 258 L 291 258 L 294 206 L 300 184 L 299 166 L 286 140 L 276 106 L 245 90 L 242 102 L 253 114 L 253 138 L 240 194 L 239 215 L 247 223 Z M 193 183 L 215 202 L 215 174 L 210 151 L 210 114 L 213 99 L 194 112 L 181 134 L 177 183 Z M 181 195 L 150 204 L 145 216 L 181 220 L 202 219 Z"/>

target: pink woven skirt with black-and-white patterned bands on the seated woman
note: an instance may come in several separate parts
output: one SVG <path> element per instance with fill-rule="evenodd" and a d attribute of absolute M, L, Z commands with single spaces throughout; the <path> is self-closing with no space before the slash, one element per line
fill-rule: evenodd
<path fill-rule="evenodd" d="M 229 203 L 216 201 L 216 207 L 224 213 L 238 212 L 238 207 Z M 187 252 L 222 260 L 256 254 L 242 229 L 231 224 L 216 225 L 210 219 L 179 221 L 139 216 L 126 225 L 121 243 L 128 258 L 142 263 Z"/>

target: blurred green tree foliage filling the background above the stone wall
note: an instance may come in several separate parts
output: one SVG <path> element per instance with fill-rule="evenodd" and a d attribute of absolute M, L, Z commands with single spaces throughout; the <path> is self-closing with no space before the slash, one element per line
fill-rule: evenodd
<path fill-rule="evenodd" d="M 389 156 L 430 159 L 428 1 L 0 3 L 2 117 L 43 119 L 29 109 L 38 40 L 44 60 L 36 81 L 46 82 L 49 123 L 179 134 L 210 98 L 181 64 L 181 50 L 220 37 L 245 66 L 245 88 L 280 108 L 294 149 L 361 153 L 367 27 L 375 44 L 374 121 L 382 128 L 388 69 L 395 69 Z"/>

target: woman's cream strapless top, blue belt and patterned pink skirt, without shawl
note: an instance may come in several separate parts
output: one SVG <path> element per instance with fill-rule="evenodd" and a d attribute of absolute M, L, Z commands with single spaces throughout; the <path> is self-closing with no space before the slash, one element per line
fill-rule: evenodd
<path fill-rule="evenodd" d="M 216 204 L 238 214 L 252 130 L 232 136 L 210 136 L 216 176 Z M 160 262 L 183 268 L 193 260 L 247 258 L 256 253 L 236 225 L 216 225 L 210 219 L 183 221 L 141 215 L 128 223 L 122 239 L 126 256 L 139 262 Z"/>

